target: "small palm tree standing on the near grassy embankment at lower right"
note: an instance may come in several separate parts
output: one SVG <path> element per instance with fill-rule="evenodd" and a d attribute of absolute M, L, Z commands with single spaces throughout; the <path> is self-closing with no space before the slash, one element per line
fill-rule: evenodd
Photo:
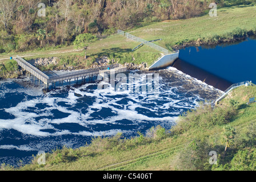
<path fill-rule="evenodd" d="M 235 138 L 235 129 L 229 125 L 223 127 L 222 132 L 222 143 L 225 144 L 225 152 L 227 151 L 227 147 L 230 147 L 234 142 Z"/>

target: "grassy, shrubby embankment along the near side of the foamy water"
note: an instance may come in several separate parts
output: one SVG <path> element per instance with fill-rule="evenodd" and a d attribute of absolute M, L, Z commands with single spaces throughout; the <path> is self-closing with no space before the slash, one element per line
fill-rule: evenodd
<path fill-rule="evenodd" d="M 255 170 L 256 103 L 246 105 L 254 96 L 256 86 L 241 86 L 214 108 L 201 104 L 185 113 L 171 132 L 155 127 L 131 139 L 95 138 L 89 146 L 47 153 L 45 165 L 35 158 L 15 170 Z M 225 151 L 227 126 L 235 134 Z M 210 151 L 217 152 L 217 165 L 209 164 Z"/>

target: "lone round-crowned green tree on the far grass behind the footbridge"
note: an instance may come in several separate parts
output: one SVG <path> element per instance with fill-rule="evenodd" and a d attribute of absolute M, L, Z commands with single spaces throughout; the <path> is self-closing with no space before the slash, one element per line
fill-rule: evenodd
<path fill-rule="evenodd" d="M 86 50 L 89 44 L 94 43 L 96 40 L 98 40 L 98 38 L 93 34 L 80 34 L 75 37 L 74 48 L 75 49 L 83 48 L 85 50 L 85 59 L 87 59 Z"/>

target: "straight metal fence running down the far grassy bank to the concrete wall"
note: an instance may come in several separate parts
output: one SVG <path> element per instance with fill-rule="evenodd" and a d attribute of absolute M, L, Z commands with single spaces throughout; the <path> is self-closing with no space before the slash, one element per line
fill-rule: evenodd
<path fill-rule="evenodd" d="M 131 34 L 127 33 L 127 32 L 125 33 L 122 30 L 118 30 L 117 33 L 120 34 L 120 35 L 125 36 L 127 39 L 131 39 L 131 40 L 143 43 L 143 44 L 145 44 L 147 46 L 150 46 L 150 47 L 152 47 L 154 49 L 157 49 L 158 51 L 161 51 L 161 52 L 165 53 L 166 55 L 169 53 L 169 51 L 167 49 L 165 49 L 165 48 L 163 48 L 161 46 L 158 46 L 157 44 L 154 44 L 154 43 L 151 43 L 151 42 L 149 42 L 147 40 L 138 38 L 137 36 L 131 35 Z"/>

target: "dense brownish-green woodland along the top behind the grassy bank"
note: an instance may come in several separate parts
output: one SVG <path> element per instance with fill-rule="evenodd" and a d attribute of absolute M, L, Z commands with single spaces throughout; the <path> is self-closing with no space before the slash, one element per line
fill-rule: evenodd
<path fill-rule="evenodd" d="M 216 1 L 218 6 L 255 0 Z M 45 4 L 45 15 L 43 6 Z M 140 23 L 203 14 L 209 0 L 1 0 L 0 53 L 73 44 L 82 33 L 106 36 Z"/>

